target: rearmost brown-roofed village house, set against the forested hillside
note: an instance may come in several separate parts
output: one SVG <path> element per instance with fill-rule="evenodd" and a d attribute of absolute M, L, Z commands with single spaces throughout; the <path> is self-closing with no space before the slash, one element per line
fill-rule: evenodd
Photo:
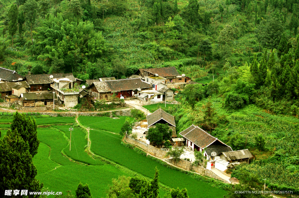
<path fill-rule="evenodd" d="M 180 75 L 179 72 L 176 70 L 176 67 L 161 67 L 161 68 L 145 68 L 145 69 L 138 69 L 135 72 L 135 75 L 139 75 L 144 77 L 145 82 L 154 81 L 164 81 L 166 85 L 174 84 L 174 83 L 187 83 L 191 80 L 191 78 L 185 76 L 184 74 Z M 163 77 L 159 79 L 159 77 Z M 158 78 L 158 79 L 157 79 Z M 166 78 L 166 79 L 164 79 Z"/>

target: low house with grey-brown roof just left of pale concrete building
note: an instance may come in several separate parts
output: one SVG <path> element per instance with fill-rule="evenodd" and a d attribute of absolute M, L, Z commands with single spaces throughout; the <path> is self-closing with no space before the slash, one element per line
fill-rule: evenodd
<path fill-rule="evenodd" d="M 53 107 L 53 98 L 57 100 L 57 94 L 53 93 L 25 93 L 21 94 L 24 107 L 51 106 Z"/>

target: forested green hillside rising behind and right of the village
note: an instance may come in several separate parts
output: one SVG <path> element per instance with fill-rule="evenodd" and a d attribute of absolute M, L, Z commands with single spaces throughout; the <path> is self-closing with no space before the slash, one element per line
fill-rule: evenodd
<path fill-rule="evenodd" d="M 250 149 L 234 176 L 298 192 L 298 15 L 298 0 L 2 0 L 0 66 L 82 80 L 176 66 L 208 83 L 167 109 L 177 131 L 197 124 Z"/>

